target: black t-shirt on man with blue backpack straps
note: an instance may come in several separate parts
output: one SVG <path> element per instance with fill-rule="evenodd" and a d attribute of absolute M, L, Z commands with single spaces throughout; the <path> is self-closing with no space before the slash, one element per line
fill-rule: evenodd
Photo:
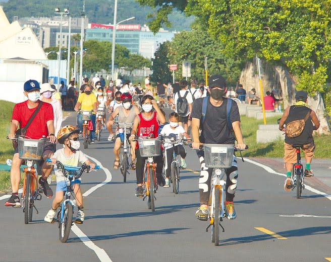
<path fill-rule="evenodd" d="M 227 98 L 224 98 L 222 105 L 215 107 L 211 105 L 208 100 L 207 111 L 204 122 L 200 127 L 202 132 L 200 135 L 200 142 L 208 144 L 234 144 L 235 137 L 228 128 L 227 121 Z M 191 117 L 200 119 L 200 125 L 202 123 L 202 103 L 203 98 L 196 99 Z M 231 123 L 240 121 L 239 109 L 237 103 L 232 102 L 230 111 Z"/>

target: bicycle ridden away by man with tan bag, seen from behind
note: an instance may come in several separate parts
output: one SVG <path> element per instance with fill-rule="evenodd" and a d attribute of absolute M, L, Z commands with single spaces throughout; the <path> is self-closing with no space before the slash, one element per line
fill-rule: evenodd
<path fill-rule="evenodd" d="M 295 152 L 297 153 L 297 162 L 293 164 L 293 169 L 291 173 L 291 181 L 292 181 L 292 190 L 297 188 L 297 198 L 301 197 L 302 190 L 305 189 L 304 184 L 304 171 L 303 165 L 301 164 L 301 153 L 300 148 L 302 145 L 292 145 L 295 148 Z"/>

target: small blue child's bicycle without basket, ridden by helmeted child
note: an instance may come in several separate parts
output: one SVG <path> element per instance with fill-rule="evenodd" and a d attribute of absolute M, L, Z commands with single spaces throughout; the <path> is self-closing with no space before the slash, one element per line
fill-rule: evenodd
<path fill-rule="evenodd" d="M 46 161 L 52 162 L 50 158 L 47 158 Z M 56 166 L 63 172 L 67 185 L 66 199 L 62 202 L 57 216 L 60 229 L 59 239 L 62 243 L 65 243 L 69 238 L 71 226 L 73 224 L 75 206 L 75 203 L 71 200 L 71 196 L 74 192 L 73 186 L 75 185 L 75 180 L 78 180 L 84 171 L 90 171 L 90 166 L 86 164 L 83 164 L 82 166 L 64 165 L 60 161 L 57 161 Z M 100 169 L 100 167 L 96 165 L 94 169 Z"/>

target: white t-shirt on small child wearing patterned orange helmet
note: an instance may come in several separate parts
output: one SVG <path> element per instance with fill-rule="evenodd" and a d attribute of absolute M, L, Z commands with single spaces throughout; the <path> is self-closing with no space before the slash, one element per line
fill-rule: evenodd
<path fill-rule="evenodd" d="M 73 153 L 71 156 L 66 156 L 64 148 L 57 150 L 53 154 L 52 158 L 56 158 L 64 165 L 72 165 L 72 166 L 78 166 L 79 162 L 83 164 L 86 162 L 86 160 L 88 160 L 86 155 L 82 151 L 76 151 L 76 153 Z M 62 170 L 59 170 L 54 167 L 54 171 L 57 176 L 57 183 L 65 180 L 65 176 Z"/>

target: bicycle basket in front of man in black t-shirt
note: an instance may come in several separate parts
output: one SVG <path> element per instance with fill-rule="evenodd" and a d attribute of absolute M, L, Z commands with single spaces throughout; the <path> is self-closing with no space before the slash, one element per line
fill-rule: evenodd
<path fill-rule="evenodd" d="M 234 145 L 203 144 L 206 167 L 229 168 L 232 166 Z"/>

